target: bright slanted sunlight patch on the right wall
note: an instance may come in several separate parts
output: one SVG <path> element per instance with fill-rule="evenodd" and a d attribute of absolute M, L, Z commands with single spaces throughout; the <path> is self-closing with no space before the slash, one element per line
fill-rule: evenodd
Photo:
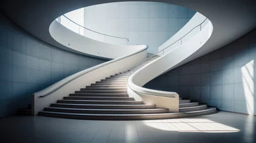
<path fill-rule="evenodd" d="M 247 113 L 254 114 L 254 60 L 243 66 L 241 70 Z"/>

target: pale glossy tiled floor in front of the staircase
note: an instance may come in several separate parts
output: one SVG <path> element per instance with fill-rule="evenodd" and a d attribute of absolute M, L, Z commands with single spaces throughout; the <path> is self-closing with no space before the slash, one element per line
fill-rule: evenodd
<path fill-rule="evenodd" d="M 13 116 L 0 119 L 0 142 L 256 142 L 255 119 L 223 111 L 186 119 L 145 121 Z"/>

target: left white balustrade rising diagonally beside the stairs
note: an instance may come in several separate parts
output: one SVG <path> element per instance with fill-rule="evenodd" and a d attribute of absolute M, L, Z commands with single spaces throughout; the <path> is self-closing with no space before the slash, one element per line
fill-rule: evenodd
<path fill-rule="evenodd" d="M 32 114 L 38 114 L 39 111 L 43 110 L 44 107 L 48 107 L 52 102 L 60 100 L 80 88 L 91 85 L 91 83 L 95 83 L 110 75 L 131 69 L 137 63 L 145 60 L 147 56 L 146 49 L 148 47 L 146 45 L 140 45 L 137 48 L 139 50 L 136 52 L 80 71 L 54 83 L 42 91 L 36 92 L 33 94 Z"/>

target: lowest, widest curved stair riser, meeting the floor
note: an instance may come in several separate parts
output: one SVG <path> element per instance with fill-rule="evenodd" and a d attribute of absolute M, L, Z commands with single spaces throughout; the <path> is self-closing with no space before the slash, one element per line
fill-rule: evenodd
<path fill-rule="evenodd" d="M 47 117 L 58 117 L 66 119 L 81 119 L 81 120 L 157 120 L 157 119 L 176 119 L 181 117 L 193 117 L 193 116 L 202 116 L 207 114 L 215 113 L 216 110 L 203 111 L 201 113 L 193 114 L 167 114 L 167 115 L 147 115 L 147 116 L 82 116 L 82 115 L 68 115 L 68 114 L 51 114 L 51 113 L 42 113 L 39 115 Z"/>

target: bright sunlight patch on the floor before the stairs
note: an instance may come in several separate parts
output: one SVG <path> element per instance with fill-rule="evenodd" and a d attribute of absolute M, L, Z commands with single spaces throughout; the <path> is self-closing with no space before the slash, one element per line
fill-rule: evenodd
<path fill-rule="evenodd" d="M 229 133 L 240 131 L 208 119 L 146 120 L 144 123 L 152 128 L 178 132 Z"/>

